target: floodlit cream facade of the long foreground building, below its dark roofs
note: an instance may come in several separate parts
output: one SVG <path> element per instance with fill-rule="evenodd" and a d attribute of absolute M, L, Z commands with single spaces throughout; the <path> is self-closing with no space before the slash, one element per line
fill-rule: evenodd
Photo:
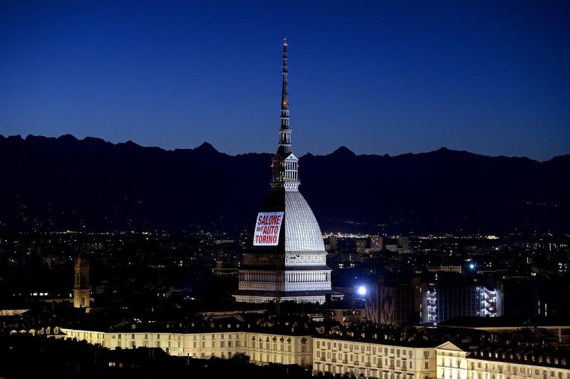
<path fill-rule="evenodd" d="M 162 348 L 170 355 L 192 358 L 232 358 L 248 355 L 252 363 L 296 364 L 313 373 L 351 374 L 379 379 L 570 379 L 569 357 L 482 355 L 451 342 L 435 348 L 341 340 L 321 336 L 289 336 L 252 331 L 155 333 L 147 331 L 87 331 L 41 328 L 11 334 L 76 338 L 105 348 Z M 517 353 L 514 353 L 515 355 Z M 513 359 L 515 358 L 515 359 Z"/>

